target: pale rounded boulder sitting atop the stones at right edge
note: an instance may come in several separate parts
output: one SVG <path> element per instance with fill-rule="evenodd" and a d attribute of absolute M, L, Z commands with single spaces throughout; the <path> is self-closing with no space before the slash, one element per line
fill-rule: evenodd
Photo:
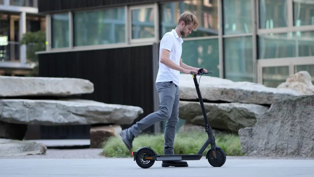
<path fill-rule="evenodd" d="M 314 94 L 312 77 L 307 71 L 299 71 L 286 79 L 286 82 L 279 84 L 277 88 L 290 88 L 300 95 Z"/>

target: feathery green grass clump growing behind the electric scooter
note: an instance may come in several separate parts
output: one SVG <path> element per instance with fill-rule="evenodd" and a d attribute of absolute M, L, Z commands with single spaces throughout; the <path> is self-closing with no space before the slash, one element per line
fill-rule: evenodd
<path fill-rule="evenodd" d="M 227 156 L 242 156 L 240 139 L 237 135 L 218 135 L 216 145 L 222 147 Z M 177 133 L 174 144 L 175 154 L 196 154 L 207 139 L 204 132 Z M 149 135 L 143 134 L 133 141 L 132 151 L 141 147 L 150 146 L 157 154 L 164 154 L 164 134 Z M 208 151 L 210 145 L 204 151 Z M 123 144 L 120 136 L 112 136 L 104 143 L 103 156 L 106 157 L 132 157 L 131 151 Z"/>

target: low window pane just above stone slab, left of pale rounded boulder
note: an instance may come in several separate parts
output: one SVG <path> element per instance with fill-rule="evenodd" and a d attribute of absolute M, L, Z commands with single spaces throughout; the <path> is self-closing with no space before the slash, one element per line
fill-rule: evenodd
<path fill-rule="evenodd" d="M 289 66 L 263 67 L 263 85 L 278 87 L 289 77 Z"/>

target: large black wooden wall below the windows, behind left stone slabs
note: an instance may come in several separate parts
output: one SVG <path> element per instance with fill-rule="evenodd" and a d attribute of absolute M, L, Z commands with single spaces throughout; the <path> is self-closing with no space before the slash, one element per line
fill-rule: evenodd
<path fill-rule="evenodd" d="M 139 106 L 144 113 L 138 121 L 154 111 L 152 57 L 152 46 L 39 54 L 39 76 L 88 79 L 94 93 L 78 98 Z M 41 139 L 85 138 L 89 126 L 41 126 Z"/>

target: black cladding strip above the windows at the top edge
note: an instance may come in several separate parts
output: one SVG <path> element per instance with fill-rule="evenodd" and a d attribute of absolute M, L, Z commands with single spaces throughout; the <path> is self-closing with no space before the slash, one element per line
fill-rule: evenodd
<path fill-rule="evenodd" d="M 145 4 L 171 0 L 39 0 L 39 13 L 53 13 L 78 9 L 95 9 L 132 4 Z"/>

